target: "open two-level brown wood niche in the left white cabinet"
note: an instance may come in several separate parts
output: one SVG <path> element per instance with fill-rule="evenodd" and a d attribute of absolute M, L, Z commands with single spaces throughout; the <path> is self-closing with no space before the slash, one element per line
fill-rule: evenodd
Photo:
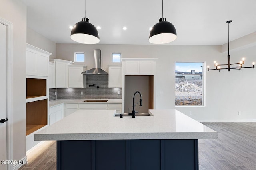
<path fill-rule="evenodd" d="M 47 79 L 26 78 L 26 135 L 48 124 Z"/>

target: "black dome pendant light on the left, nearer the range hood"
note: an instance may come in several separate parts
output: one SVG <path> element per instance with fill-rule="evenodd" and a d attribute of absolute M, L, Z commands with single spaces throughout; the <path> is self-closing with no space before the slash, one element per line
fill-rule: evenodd
<path fill-rule="evenodd" d="M 86 18 L 86 0 L 85 0 L 85 17 L 82 21 L 76 23 L 71 30 L 70 38 L 82 44 L 97 44 L 100 42 L 100 37 L 97 29 L 89 23 Z"/>

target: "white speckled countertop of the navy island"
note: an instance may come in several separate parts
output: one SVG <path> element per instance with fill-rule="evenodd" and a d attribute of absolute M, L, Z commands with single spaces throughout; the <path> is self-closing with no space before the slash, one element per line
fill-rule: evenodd
<path fill-rule="evenodd" d="M 114 117 L 115 110 L 79 110 L 35 134 L 35 140 L 216 139 L 217 132 L 177 110 Z"/>

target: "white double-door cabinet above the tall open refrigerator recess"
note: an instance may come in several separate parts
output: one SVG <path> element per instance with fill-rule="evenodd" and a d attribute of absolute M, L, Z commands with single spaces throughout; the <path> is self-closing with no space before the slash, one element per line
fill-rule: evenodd
<path fill-rule="evenodd" d="M 154 61 L 125 61 L 125 75 L 153 75 Z"/>

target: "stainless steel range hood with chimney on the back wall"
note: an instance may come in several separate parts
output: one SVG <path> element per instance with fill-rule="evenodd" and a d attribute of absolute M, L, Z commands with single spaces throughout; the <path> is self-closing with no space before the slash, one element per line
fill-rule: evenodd
<path fill-rule="evenodd" d="M 100 68 L 101 51 L 100 49 L 94 49 L 94 68 L 82 72 L 81 74 L 86 75 L 108 75 L 108 73 Z"/>

